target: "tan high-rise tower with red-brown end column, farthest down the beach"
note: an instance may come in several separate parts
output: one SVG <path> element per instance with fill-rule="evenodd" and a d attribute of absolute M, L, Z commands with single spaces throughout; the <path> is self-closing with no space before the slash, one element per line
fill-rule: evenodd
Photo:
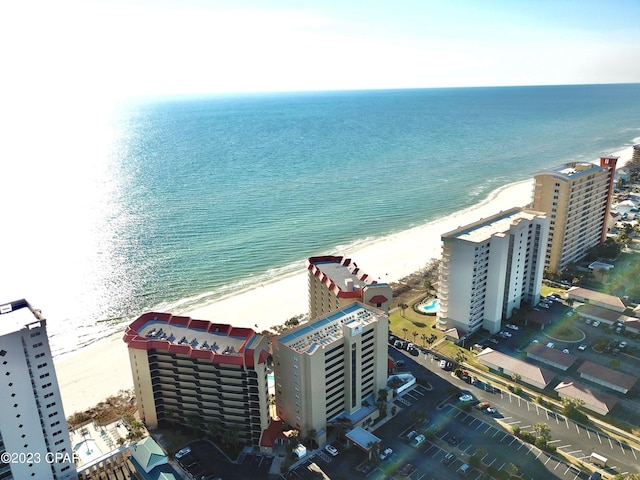
<path fill-rule="evenodd" d="M 605 241 L 617 161 L 567 163 L 534 176 L 532 209 L 551 221 L 545 255 L 550 271 L 564 270 Z"/>

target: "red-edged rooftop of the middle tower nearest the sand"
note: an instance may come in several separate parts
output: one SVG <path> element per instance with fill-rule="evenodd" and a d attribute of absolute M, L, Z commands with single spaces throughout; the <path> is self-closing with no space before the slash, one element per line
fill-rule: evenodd
<path fill-rule="evenodd" d="M 332 255 L 310 257 L 307 269 L 341 298 L 358 298 L 364 287 L 377 283 L 350 258 Z"/>

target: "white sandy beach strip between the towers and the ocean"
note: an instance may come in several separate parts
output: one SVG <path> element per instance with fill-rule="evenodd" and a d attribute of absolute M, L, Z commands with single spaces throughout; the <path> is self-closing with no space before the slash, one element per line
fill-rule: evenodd
<path fill-rule="evenodd" d="M 632 148 L 614 153 L 620 166 Z M 595 162 L 595 160 L 593 160 Z M 533 179 L 505 186 L 483 202 L 447 217 L 393 234 L 353 251 L 327 252 L 355 260 L 363 271 L 381 282 L 394 282 L 424 267 L 440 255 L 440 236 L 459 226 L 531 201 Z M 260 332 L 307 311 L 306 271 L 238 292 L 187 312 L 192 318 L 251 327 Z M 132 388 L 127 348 L 122 333 L 96 342 L 56 360 L 65 414 L 90 408 L 121 389 Z"/>

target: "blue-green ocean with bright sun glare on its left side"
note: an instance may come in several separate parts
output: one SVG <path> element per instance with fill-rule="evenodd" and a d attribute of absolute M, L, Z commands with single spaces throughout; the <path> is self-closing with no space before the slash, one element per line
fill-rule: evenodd
<path fill-rule="evenodd" d="M 639 112 L 632 84 L 147 98 L 40 122 L 64 133 L 29 132 L 0 193 L 0 302 L 42 309 L 60 355 L 596 162 L 640 141 Z"/>

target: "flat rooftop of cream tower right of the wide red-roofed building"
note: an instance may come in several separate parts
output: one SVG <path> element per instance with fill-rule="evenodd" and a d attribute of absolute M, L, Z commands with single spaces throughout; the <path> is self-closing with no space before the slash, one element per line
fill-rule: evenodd
<path fill-rule="evenodd" d="M 362 329 L 386 316 L 360 302 L 354 302 L 340 310 L 306 323 L 278 337 L 282 345 L 298 353 L 313 354 L 344 337 L 343 327 Z"/>

